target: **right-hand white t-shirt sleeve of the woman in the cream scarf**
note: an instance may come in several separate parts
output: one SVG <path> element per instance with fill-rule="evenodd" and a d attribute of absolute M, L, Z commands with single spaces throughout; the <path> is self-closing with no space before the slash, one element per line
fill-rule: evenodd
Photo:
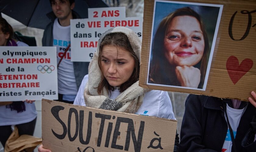
<path fill-rule="evenodd" d="M 158 117 L 176 120 L 172 110 L 171 99 L 168 95 L 168 92 L 166 91 L 160 92 L 160 105 L 159 105 Z"/>

